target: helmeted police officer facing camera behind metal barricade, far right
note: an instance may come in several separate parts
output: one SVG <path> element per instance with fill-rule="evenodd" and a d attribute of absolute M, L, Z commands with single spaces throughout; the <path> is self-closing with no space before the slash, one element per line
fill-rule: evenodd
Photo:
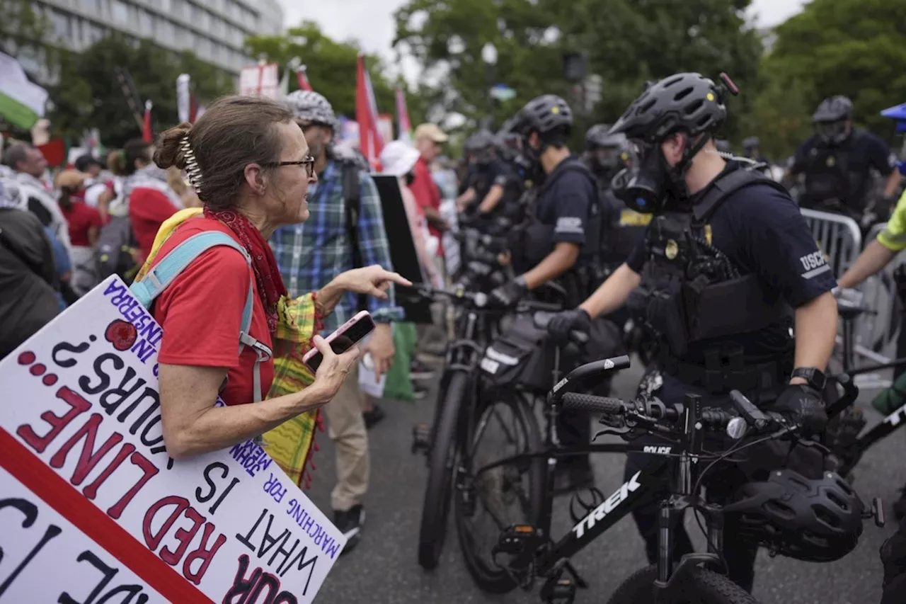
<path fill-rule="evenodd" d="M 872 190 L 872 168 L 886 182 L 879 209 L 892 208 L 900 187 L 896 155 L 886 142 L 853 128 L 853 102 L 845 96 L 824 99 L 812 116 L 814 135 L 796 151 L 789 175 L 805 174 L 800 205 L 863 219 Z"/>

